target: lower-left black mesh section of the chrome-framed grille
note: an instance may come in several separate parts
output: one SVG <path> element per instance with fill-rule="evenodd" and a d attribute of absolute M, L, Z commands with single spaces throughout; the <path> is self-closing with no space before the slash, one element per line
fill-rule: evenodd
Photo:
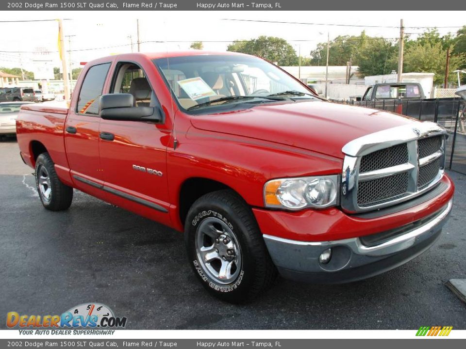
<path fill-rule="evenodd" d="M 366 207 L 382 204 L 405 195 L 407 190 L 407 172 L 361 182 L 358 187 L 358 205 Z"/>

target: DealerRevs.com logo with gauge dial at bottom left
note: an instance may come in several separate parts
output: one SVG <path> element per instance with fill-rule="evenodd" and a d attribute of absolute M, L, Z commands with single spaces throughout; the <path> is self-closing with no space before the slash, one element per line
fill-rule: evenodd
<path fill-rule="evenodd" d="M 113 311 L 104 304 L 83 303 L 72 307 L 61 315 L 20 315 L 17 312 L 9 312 L 6 316 L 6 326 L 8 328 L 19 327 L 22 334 L 33 334 L 33 330 L 48 330 L 45 334 L 68 334 L 57 329 L 86 328 L 100 331 L 93 331 L 92 334 L 106 334 L 102 330 L 124 328 L 126 317 L 116 317 Z M 30 330 L 26 330 L 30 329 Z M 108 332 L 108 331 L 107 331 Z M 111 331 L 113 334 L 114 331 Z M 76 334 L 76 333 L 73 333 Z"/>

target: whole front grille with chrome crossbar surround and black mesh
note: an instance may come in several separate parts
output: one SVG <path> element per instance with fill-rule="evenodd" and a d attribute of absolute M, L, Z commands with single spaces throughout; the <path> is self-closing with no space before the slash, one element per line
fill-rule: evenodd
<path fill-rule="evenodd" d="M 341 207 L 357 213 L 396 205 L 431 189 L 445 168 L 447 131 L 432 122 L 372 133 L 347 143 Z M 383 167 L 383 159 L 386 166 Z"/>

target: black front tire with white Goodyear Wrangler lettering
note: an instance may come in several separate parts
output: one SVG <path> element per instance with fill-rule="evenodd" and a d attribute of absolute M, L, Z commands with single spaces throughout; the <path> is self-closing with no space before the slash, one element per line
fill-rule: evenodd
<path fill-rule="evenodd" d="M 225 224 L 220 225 L 221 222 L 217 222 L 220 220 Z M 201 250 L 197 247 L 197 241 L 199 242 L 197 239 L 202 233 L 197 234 L 197 232 L 204 230 L 208 226 L 206 224 L 210 223 L 219 224 L 216 226 L 217 231 L 228 231 L 225 233 L 226 236 L 233 235 L 232 239 L 239 245 L 239 250 L 236 250 L 237 246 L 235 245 L 234 251 L 239 251 L 240 265 L 236 266 L 234 264 L 236 262 L 233 261 L 233 267 L 230 268 L 230 271 L 233 270 L 237 276 L 233 279 L 234 275 L 232 275 L 232 279 L 228 283 L 218 282 L 218 278 L 212 276 L 209 269 L 200 260 L 202 258 L 200 257 Z M 268 290 L 275 281 L 277 270 L 268 254 L 254 215 L 246 202 L 234 191 L 219 190 L 200 197 L 189 209 L 184 232 L 189 264 L 201 284 L 217 298 L 231 303 L 252 301 Z M 206 242 L 207 245 L 210 246 L 212 243 L 212 246 L 204 248 L 213 248 L 220 255 L 219 249 L 222 250 L 222 246 L 218 246 L 224 243 L 225 239 L 220 240 L 219 245 L 217 245 L 218 238 L 214 239 L 206 234 L 203 236 L 211 239 Z M 225 235 L 220 236 L 224 237 Z M 202 244 L 202 246 L 205 245 Z M 222 258 L 225 260 L 224 257 Z M 234 258 L 238 258 L 236 254 Z M 217 262 L 217 260 L 213 261 Z M 211 266 L 214 262 L 211 263 Z M 229 262 L 230 260 L 226 261 L 226 263 Z M 224 262 L 218 258 L 218 263 L 223 266 Z"/>

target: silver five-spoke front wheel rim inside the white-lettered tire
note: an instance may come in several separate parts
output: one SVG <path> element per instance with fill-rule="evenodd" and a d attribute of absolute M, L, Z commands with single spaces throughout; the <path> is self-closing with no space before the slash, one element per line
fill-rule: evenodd
<path fill-rule="evenodd" d="M 219 284 L 230 284 L 241 271 L 241 249 L 222 220 L 209 217 L 196 230 L 196 253 L 202 270 Z"/>

